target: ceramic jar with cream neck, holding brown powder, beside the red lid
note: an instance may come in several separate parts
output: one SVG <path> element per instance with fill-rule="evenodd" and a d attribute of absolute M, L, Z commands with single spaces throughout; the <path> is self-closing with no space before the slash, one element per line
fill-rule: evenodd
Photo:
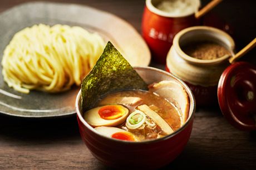
<path fill-rule="evenodd" d="M 195 42 L 213 42 L 221 45 L 229 55 L 216 59 L 198 59 L 184 52 L 184 47 Z M 228 59 L 234 55 L 234 40 L 222 30 L 197 26 L 181 30 L 175 35 L 173 45 L 166 58 L 166 71 L 184 80 L 195 96 L 197 105 L 218 103 L 217 89 L 221 74 L 229 65 Z M 208 54 L 205 54 L 208 55 Z M 205 56 L 208 58 L 208 56 Z"/>

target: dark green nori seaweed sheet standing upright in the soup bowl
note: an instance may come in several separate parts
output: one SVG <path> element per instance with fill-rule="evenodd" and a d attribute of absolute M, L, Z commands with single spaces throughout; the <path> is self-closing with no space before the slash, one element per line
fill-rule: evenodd
<path fill-rule="evenodd" d="M 102 95 L 126 89 L 147 90 L 147 84 L 119 51 L 108 42 L 104 52 L 81 85 L 81 110 L 96 106 Z"/>

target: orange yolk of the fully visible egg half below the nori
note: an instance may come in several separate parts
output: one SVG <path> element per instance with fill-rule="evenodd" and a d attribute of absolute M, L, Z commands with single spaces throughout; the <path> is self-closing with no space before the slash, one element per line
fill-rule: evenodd
<path fill-rule="evenodd" d="M 125 110 L 122 108 L 122 106 L 108 105 L 101 107 L 101 109 L 98 111 L 98 114 L 102 119 L 115 120 L 119 117 L 122 117 L 122 115 L 125 114 Z"/>

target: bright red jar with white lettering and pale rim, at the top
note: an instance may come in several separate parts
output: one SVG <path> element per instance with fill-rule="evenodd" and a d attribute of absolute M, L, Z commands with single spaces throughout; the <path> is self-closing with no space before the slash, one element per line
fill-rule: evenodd
<path fill-rule="evenodd" d="M 173 44 L 176 33 L 184 28 L 198 25 L 195 12 L 200 7 L 199 0 L 191 0 L 193 12 L 181 12 L 171 14 L 157 9 L 160 0 L 146 0 L 144 14 L 142 16 L 142 37 L 151 50 L 152 60 L 165 64 L 166 55 Z"/>

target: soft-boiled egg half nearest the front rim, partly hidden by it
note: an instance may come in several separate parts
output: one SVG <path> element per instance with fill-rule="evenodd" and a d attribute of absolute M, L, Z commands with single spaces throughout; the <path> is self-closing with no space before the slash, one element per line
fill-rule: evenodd
<path fill-rule="evenodd" d="M 130 132 L 122 130 L 121 128 L 100 126 L 100 127 L 95 127 L 94 129 L 103 136 L 107 136 L 107 137 L 110 137 L 110 138 L 115 138 L 117 140 L 138 141 L 136 136 L 134 136 Z"/>

